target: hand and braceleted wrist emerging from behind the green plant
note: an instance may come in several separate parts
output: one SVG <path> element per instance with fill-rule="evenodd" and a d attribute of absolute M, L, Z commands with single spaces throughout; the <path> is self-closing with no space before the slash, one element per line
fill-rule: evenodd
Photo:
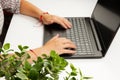
<path fill-rule="evenodd" d="M 69 48 L 72 48 L 74 50 L 71 50 Z M 49 56 L 51 50 L 56 51 L 59 55 L 75 54 L 76 46 L 71 40 L 59 37 L 59 35 L 57 34 L 52 39 L 50 39 L 44 46 L 28 51 L 31 56 L 29 62 L 32 63 L 32 60 L 36 60 L 38 56 L 43 57 L 42 54 L 46 54 Z"/>

